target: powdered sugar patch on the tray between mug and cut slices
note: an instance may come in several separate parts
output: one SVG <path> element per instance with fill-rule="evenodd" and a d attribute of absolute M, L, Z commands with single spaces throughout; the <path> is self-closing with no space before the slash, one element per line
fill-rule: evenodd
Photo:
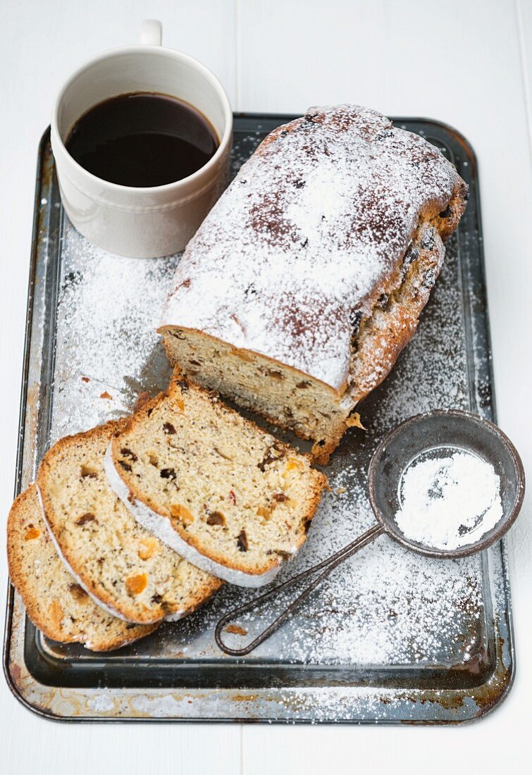
<path fill-rule="evenodd" d="M 113 256 L 69 222 L 63 237 L 51 439 L 130 412 L 168 384 L 157 318 L 179 256 Z"/>

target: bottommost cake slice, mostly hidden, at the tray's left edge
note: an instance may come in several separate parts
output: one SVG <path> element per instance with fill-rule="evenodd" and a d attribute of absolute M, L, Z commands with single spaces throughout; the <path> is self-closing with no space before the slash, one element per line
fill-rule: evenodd
<path fill-rule="evenodd" d="M 43 522 L 35 485 L 16 498 L 8 518 L 9 576 L 33 624 L 61 643 L 111 651 L 157 629 L 109 615 L 68 573 Z"/>

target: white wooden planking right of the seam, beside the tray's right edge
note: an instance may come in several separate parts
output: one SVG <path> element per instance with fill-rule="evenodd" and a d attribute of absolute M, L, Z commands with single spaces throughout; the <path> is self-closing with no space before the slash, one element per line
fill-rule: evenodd
<path fill-rule="evenodd" d="M 472 143 L 480 168 L 499 424 L 532 470 L 532 174 L 520 50 L 524 40 L 530 84 L 532 3 L 520 5 L 524 34 L 510 0 L 242 2 L 239 106 L 301 112 L 320 103 L 358 102 L 389 115 L 440 119 Z M 467 732 L 244 727 L 245 775 L 422 766 L 443 773 L 458 761 L 471 772 L 505 764 L 513 771 L 515 761 L 519 771 L 532 690 L 530 511 L 528 495 L 510 536 L 518 671 L 495 715 Z"/>

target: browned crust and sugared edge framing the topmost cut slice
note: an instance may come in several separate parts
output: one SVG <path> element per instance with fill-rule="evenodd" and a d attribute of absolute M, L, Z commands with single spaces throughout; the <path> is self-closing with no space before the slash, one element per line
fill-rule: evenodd
<path fill-rule="evenodd" d="M 209 394 L 207 391 L 203 391 L 189 381 L 182 379 L 176 370 L 168 394 L 161 394 L 148 404 L 143 405 L 140 411 L 136 412 L 133 418 L 130 418 L 126 428 L 116 434 L 116 436 L 113 436 L 104 463 L 109 483 L 126 507 L 130 509 L 144 527 L 154 532 L 158 538 L 182 556 L 186 556 L 189 562 L 209 573 L 216 574 L 230 584 L 238 584 L 245 587 L 259 587 L 268 584 L 278 573 L 278 570 L 280 570 L 283 561 L 281 556 L 275 553 L 264 556 L 261 563 L 255 564 L 254 567 L 239 563 L 237 561 L 238 558 L 235 559 L 235 557 L 228 556 L 222 548 L 217 548 L 212 543 L 206 543 L 201 536 L 192 535 L 178 519 L 172 519 L 168 508 L 164 507 L 146 491 L 146 488 L 143 487 L 143 481 L 138 479 L 133 471 L 124 470 L 119 466 L 121 458 L 120 449 L 124 446 L 134 446 L 131 441 L 133 436 L 136 433 L 143 434 L 147 418 L 150 417 L 154 410 L 161 408 L 164 405 L 164 401 L 172 399 L 176 389 L 180 390 L 180 387 L 176 387 L 179 385 L 186 385 L 188 391 L 195 391 L 195 394 L 202 395 L 204 400 L 212 404 L 215 412 L 221 412 L 222 414 L 237 418 L 240 428 L 245 426 L 254 433 L 266 436 L 253 422 L 240 417 L 240 415 L 237 415 L 219 402 L 216 395 Z M 238 433 L 238 429 L 235 429 L 235 433 Z M 287 456 L 299 457 L 301 460 L 310 460 L 309 456 L 295 453 L 295 450 L 286 444 L 280 442 L 276 442 L 276 444 Z M 312 520 L 320 503 L 321 493 L 326 484 L 326 477 L 320 471 L 312 468 L 309 468 L 307 476 L 309 482 L 305 508 L 299 512 L 299 523 L 303 526 L 306 525 L 308 529 L 309 522 Z M 297 532 L 291 547 L 292 554 L 296 553 L 305 539 L 305 529 Z"/>

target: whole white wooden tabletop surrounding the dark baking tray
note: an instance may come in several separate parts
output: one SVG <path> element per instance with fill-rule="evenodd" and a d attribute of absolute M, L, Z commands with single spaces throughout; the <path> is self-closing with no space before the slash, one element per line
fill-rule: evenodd
<path fill-rule="evenodd" d="M 532 0 L 17 0 L 0 5 L 0 498 L 12 500 L 36 151 L 54 92 L 82 60 L 136 41 L 141 20 L 204 61 L 237 110 L 358 102 L 459 129 L 478 154 L 499 424 L 532 471 Z M 530 495 L 510 534 L 517 674 L 492 715 L 458 729 L 59 725 L 0 680 L 0 772 L 490 773 L 528 748 Z M 7 574 L 0 552 L 0 595 Z M 530 762 L 529 762 L 530 764 Z"/>

